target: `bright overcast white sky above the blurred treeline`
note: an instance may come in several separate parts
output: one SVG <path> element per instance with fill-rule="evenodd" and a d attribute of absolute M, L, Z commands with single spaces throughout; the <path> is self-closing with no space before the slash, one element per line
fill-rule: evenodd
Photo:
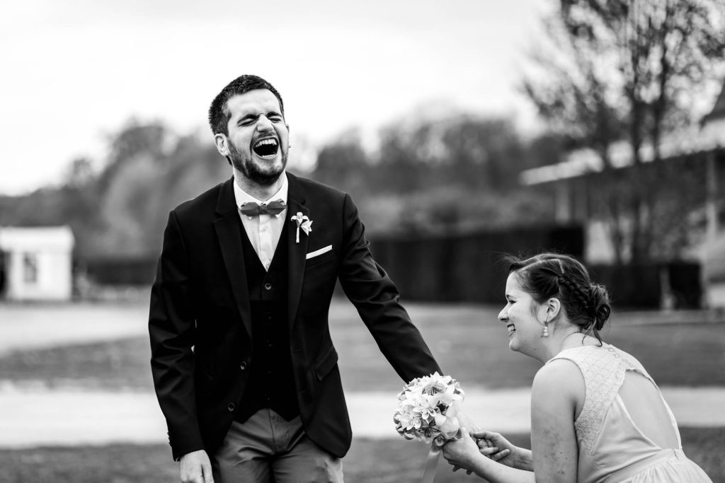
<path fill-rule="evenodd" d="M 254 73 L 316 146 L 421 106 L 533 125 L 517 86 L 553 0 L 22 0 L 0 14 L 0 194 L 102 161 L 131 117 L 206 135 L 211 99 Z M 211 135 L 209 134 L 211 143 Z"/>

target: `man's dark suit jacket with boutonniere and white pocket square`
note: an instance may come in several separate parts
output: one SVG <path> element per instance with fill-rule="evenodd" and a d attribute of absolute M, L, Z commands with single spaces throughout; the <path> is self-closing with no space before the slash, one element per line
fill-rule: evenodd
<path fill-rule="evenodd" d="M 398 292 L 370 256 L 349 195 L 289 178 L 288 322 L 297 403 L 305 432 L 342 457 L 352 439 L 328 309 L 336 280 L 404 381 L 440 371 Z M 152 288 L 152 372 L 174 458 L 213 453 L 223 441 L 254 364 L 249 290 L 233 180 L 169 214 Z M 312 231 L 289 218 L 301 211 Z M 307 253 L 332 245 L 306 260 Z M 394 395 L 391 396 L 394 398 Z M 391 426 L 392 430 L 392 426 Z"/>

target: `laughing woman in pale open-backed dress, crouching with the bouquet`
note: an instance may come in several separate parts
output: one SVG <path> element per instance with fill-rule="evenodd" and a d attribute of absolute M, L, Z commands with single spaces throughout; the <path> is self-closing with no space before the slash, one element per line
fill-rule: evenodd
<path fill-rule="evenodd" d="M 682 452 L 676 421 L 642 364 L 602 343 L 605 287 L 570 256 L 509 261 L 499 320 L 511 350 L 544 363 L 531 388 L 532 450 L 479 432 L 480 450 L 463 437 L 444 447 L 447 461 L 492 483 L 711 482 Z M 496 451 L 505 457 L 486 458 Z"/>

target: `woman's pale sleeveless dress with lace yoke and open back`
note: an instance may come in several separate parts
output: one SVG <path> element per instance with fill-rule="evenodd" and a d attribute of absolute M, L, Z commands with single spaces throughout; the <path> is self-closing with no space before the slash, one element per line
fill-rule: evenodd
<path fill-rule="evenodd" d="M 677 449 L 655 445 L 632 421 L 619 396 L 626 371 L 637 371 L 655 384 L 636 358 L 604 344 L 562 350 L 550 361 L 555 359 L 572 361 L 584 376 L 584 406 L 574 422 L 579 445 L 577 482 L 712 483 L 682 452 L 677 423 L 664 399 L 670 420 L 662 424 L 674 427 Z"/>

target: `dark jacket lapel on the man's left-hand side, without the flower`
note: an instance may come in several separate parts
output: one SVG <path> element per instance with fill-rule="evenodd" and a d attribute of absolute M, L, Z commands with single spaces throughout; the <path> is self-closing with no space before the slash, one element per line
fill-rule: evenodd
<path fill-rule="evenodd" d="M 241 232 L 239 213 L 234 201 L 233 178 L 222 185 L 217 203 L 217 214 L 214 228 L 219 240 L 219 248 L 226 268 L 231 293 L 239 311 L 239 317 L 247 333 L 252 335 L 252 309 L 249 306 L 249 287 L 247 287 L 247 270 L 244 266 L 244 251 L 241 248 Z"/>

